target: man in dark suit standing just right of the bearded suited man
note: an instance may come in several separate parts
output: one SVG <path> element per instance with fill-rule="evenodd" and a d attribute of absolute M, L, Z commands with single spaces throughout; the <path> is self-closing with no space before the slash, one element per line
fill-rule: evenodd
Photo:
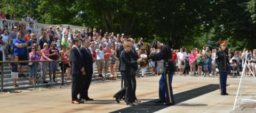
<path fill-rule="evenodd" d="M 84 58 L 84 63 L 85 64 L 85 73 L 83 73 L 82 76 L 82 94 L 80 99 L 82 101 L 92 101 L 93 99 L 88 97 L 88 89 L 90 87 L 91 81 L 92 81 L 92 73 L 93 73 L 93 60 L 92 60 L 92 54 L 89 49 L 90 46 L 90 41 L 88 39 L 83 41 L 83 46 L 81 48 L 82 51 L 82 56 Z"/>

